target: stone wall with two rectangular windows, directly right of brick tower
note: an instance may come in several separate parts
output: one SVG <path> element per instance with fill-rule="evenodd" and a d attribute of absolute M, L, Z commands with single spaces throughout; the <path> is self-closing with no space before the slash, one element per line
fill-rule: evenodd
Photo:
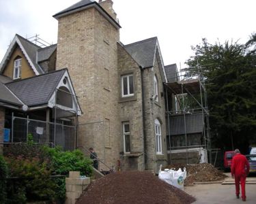
<path fill-rule="evenodd" d="M 118 71 L 119 71 L 119 114 L 120 123 L 130 123 L 130 149 L 132 156 L 124 155 L 122 158 L 122 169 L 144 170 L 144 136 L 143 136 L 143 109 L 141 89 L 141 69 L 132 59 L 130 54 L 118 45 Z M 134 76 L 134 96 L 122 98 L 121 76 L 132 73 Z M 120 135 L 120 152 L 124 152 L 123 135 Z"/>

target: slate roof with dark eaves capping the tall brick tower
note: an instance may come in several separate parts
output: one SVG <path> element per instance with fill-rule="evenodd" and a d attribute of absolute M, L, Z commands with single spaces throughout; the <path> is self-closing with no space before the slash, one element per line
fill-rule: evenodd
<path fill-rule="evenodd" d="M 115 19 L 113 19 L 101 6 L 94 0 L 81 0 L 74 5 L 71 5 L 70 7 L 66 8 L 65 10 L 62 10 L 61 12 L 58 12 L 57 14 L 53 15 L 54 18 L 57 20 L 61 18 L 62 16 L 66 16 L 68 14 L 73 14 L 75 12 L 79 12 L 81 10 L 86 10 L 90 7 L 95 7 L 100 14 L 102 14 L 106 19 L 113 24 L 114 27 L 117 29 L 121 28 L 120 25 L 116 22 Z"/>

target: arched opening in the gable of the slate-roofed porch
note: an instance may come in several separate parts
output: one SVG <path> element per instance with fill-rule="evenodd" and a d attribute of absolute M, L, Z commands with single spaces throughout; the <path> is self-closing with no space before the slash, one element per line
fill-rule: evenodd
<path fill-rule="evenodd" d="M 60 86 L 57 90 L 56 100 L 56 103 L 59 105 L 71 108 L 73 107 L 72 94 L 70 93 L 70 90 L 68 90 L 68 88 L 66 88 L 65 86 Z"/>

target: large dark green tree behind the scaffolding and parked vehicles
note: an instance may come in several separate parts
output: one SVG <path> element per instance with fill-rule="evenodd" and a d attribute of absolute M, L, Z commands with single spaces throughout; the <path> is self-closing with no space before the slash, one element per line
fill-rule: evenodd
<path fill-rule="evenodd" d="M 212 128 L 212 145 L 241 148 L 255 143 L 256 57 L 255 35 L 247 44 L 225 41 L 209 44 L 207 39 L 193 47 L 195 56 L 186 64 L 186 77 L 205 80 Z M 256 144 L 256 143 L 255 143 Z"/>

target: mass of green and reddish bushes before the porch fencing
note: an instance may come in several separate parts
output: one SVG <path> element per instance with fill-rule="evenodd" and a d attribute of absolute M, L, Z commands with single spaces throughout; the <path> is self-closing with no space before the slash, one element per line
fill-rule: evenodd
<path fill-rule="evenodd" d="M 8 203 L 65 199 L 69 171 L 81 171 L 88 177 L 92 174 L 91 160 L 80 150 L 63 152 L 61 148 L 28 143 L 5 148 L 4 154 L 10 176 L 18 177 L 8 183 Z"/>

